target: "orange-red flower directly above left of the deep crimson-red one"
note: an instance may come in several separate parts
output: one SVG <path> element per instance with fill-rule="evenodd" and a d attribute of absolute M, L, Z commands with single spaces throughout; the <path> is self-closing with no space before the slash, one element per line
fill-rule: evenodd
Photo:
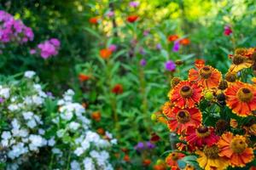
<path fill-rule="evenodd" d="M 180 109 L 174 107 L 173 114 L 169 116 L 168 127 L 177 134 L 183 133 L 188 127 L 198 127 L 201 125 L 201 111 L 197 108 Z"/>

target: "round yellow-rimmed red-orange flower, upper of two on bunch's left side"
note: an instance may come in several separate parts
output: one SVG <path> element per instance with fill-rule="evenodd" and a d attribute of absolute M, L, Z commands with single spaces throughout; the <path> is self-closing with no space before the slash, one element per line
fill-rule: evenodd
<path fill-rule="evenodd" d="M 180 108 L 192 108 L 200 102 L 202 89 L 195 83 L 182 81 L 168 94 L 172 104 Z"/>

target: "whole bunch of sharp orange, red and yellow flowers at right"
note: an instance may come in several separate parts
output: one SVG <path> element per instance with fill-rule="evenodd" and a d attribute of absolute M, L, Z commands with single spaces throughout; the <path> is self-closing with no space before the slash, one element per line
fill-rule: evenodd
<path fill-rule="evenodd" d="M 249 77 L 256 70 L 256 48 L 236 49 L 230 59 L 224 77 L 203 59 L 196 59 L 188 80 L 172 78 L 169 101 L 151 117 L 164 117 L 159 122 L 178 135 L 177 150 L 166 157 L 171 169 L 249 169 L 255 163 L 251 162 L 256 144 L 256 86 L 255 77 Z M 193 155 L 197 163 L 186 161 L 186 167 L 178 167 L 184 153 Z"/>

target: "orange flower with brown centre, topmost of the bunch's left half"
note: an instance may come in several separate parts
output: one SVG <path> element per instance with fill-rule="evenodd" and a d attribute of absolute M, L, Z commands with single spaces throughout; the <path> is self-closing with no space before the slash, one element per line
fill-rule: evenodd
<path fill-rule="evenodd" d="M 196 70 L 189 70 L 189 80 L 197 82 L 203 88 L 218 88 L 221 73 L 210 65 L 197 65 Z"/>

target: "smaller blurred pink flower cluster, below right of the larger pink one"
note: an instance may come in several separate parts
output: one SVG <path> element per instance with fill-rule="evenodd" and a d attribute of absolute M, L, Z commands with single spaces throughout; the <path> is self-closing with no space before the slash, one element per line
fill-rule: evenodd
<path fill-rule="evenodd" d="M 42 58 L 48 59 L 49 57 L 58 54 L 60 46 L 61 42 L 57 38 L 50 38 L 45 42 L 39 43 L 38 50 L 40 51 L 40 55 Z"/>

